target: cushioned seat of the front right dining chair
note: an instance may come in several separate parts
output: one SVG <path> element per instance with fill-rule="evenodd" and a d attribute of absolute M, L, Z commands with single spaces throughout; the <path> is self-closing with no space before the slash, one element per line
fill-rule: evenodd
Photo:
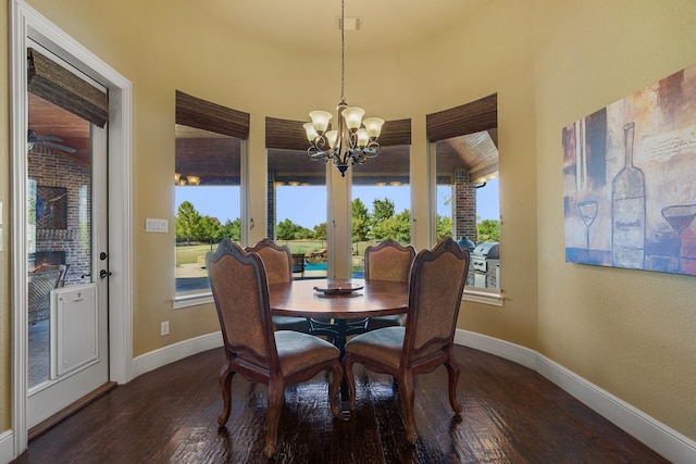
<path fill-rule="evenodd" d="M 371 358 L 383 364 L 399 367 L 403 351 L 406 327 L 384 327 L 361 334 L 346 343 L 346 352 Z"/>

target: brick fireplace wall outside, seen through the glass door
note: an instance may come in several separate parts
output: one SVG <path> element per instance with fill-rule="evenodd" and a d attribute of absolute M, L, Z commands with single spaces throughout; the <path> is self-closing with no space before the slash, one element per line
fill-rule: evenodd
<path fill-rule="evenodd" d="M 83 166 L 50 149 L 34 147 L 28 154 L 28 177 L 37 186 L 64 187 L 67 191 L 66 228 L 36 228 L 36 252 L 62 251 L 69 272 L 65 284 L 80 283 L 83 274 L 89 274 L 91 217 L 85 217 L 86 227 L 80 227 L 80 215 L 91 211 L 90 166 Z M 50 199 L 49 199 L 50 200 Z M 35 199 L 29 198 L 29 201 Z M 33 218 L 29 224 L 33 224 Z M 29 229 L 33 229 L 29 227 Z M 30 253 L 29 269 L 40 265 Z"/>

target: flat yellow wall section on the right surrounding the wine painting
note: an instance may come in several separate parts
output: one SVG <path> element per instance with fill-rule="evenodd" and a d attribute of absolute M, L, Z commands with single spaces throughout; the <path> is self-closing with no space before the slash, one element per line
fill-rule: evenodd
<path fill-rule="evenodd" d="M 564 263 L 561 128 L 696 64 L 692 0 L 535 2 L 539 351 L 696 439 L 696 280 Z"/>

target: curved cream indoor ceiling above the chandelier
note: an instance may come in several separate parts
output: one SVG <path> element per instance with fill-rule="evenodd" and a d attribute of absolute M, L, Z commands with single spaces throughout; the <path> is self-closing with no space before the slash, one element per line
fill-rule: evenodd
<path fill-rule="evenodd" d="M 346 30 L 347 51 L 386 50 L 422 42 L 456 27 L 486 0 L 345 0 L 346 24 L 361 18 L 358 32 Z M 197 8 L 245 36 L 273 46 L 339 51 L 340 0 L 197 0 Z"/>

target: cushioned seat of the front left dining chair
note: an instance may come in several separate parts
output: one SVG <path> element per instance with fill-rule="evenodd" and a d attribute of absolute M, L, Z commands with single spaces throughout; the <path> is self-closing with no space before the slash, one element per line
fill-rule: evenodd
<path fill-rule="evenodd" d="M 275 344 L 284 377 L 340 355 L 326 340 L 295 330 L 276 330 Z"/>

